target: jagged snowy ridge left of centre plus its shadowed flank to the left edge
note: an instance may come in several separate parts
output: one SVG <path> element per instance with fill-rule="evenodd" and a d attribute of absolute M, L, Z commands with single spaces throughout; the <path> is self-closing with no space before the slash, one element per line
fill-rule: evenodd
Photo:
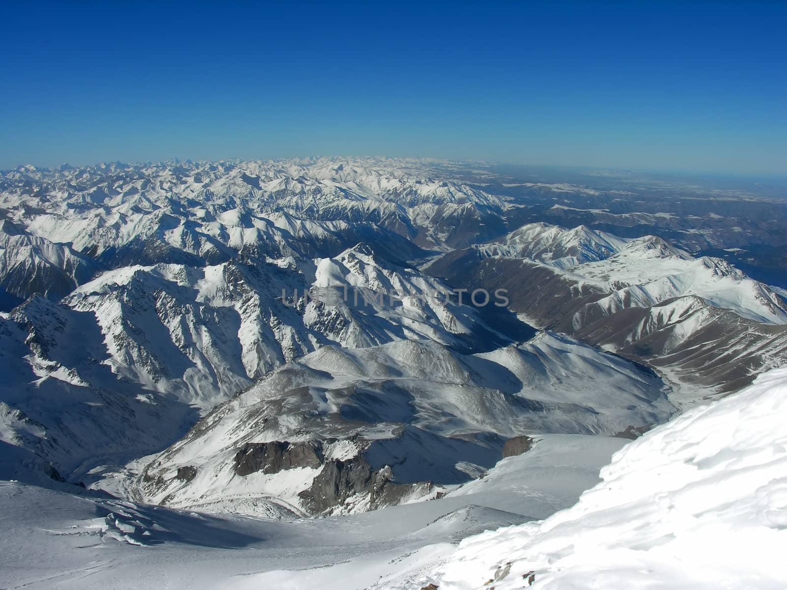
<path fill-rule="evenodd" d="M 292 259 L 134 265 L 106 271 L 60 303 L 31 297 L 0 318 L 7 376 L 0 402 L 37 426 L 28 432 L 27 422 L 11 421 L 2 440 L 83 478 L 95 466 L 88 459 L 111 463 L 123 459 L 108 455 L 161 450 L 198 409 L 211 410 L 321 346 L 509 341 L 467 305 L 386 297 L 354 304 L 342 286 L 416 295 L 447 289 L 364 247 L 299 266 Z M 296 289 L 298 297 L 312 289 L 308 304 L 283 301 Z"/>

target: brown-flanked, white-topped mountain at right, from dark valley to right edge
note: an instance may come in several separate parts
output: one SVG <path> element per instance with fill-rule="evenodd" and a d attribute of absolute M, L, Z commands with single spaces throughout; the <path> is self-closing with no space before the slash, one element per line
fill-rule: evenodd
<path fill-rule="evenodd" d="M 426 272 L 468 289 L 507 289 L 509 308 L 529 323 L 660 367 L 689 404 L 787 361 L 778 293 L 724 260 L 693 259 L 652 236 L 573 266 L 466 249 Z"/>

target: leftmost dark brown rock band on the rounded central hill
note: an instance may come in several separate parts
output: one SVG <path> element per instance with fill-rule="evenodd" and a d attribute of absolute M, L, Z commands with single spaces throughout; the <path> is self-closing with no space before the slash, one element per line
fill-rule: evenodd
<path fill-rule="evenodd" d="M 322 441 L 246 443 L 235 454 L 235 473 L 240 476 L 257 471 L 277 474 L 294 467 L 316 469 L 322 464 Z"/>

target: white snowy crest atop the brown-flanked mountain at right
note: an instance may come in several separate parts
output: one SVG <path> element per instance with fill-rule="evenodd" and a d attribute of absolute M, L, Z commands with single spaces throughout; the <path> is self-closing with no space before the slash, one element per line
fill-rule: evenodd
<path fill-rule="evenodd" d="M 787 324 L 787 304 L 769 286 L 748 278 L 726 260 L 695 259 L 656 236 L 618 238 L 585 226 L 569 230 L 529 223 L 473 249 L 482 259 L 534 260 L 580 286 L 609 293 L 596 302 L 608 314 L 694 295 L 757 322 Z"/>

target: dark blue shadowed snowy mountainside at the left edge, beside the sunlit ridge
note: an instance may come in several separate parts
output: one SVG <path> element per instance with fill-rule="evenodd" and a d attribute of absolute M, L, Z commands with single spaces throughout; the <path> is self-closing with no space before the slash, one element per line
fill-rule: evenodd
<path fill-rule="evenodd" d="M 31 467 L 53 463 L 68 477 L 107 455 L 147 455 L 197 418 L 186 404 L 109 371 L 97 332 L 86 315 L 43 297 L 0 318 L 0 441 L 30 454 Z M 36 474 L 15 478 L 41 483 Z"/>

